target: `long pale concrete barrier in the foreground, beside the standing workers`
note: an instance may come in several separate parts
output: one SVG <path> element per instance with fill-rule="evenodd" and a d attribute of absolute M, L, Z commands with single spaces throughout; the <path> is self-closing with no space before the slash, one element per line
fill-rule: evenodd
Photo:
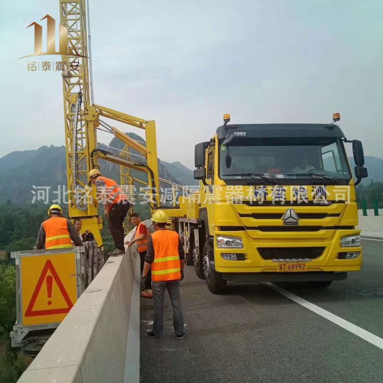
<path fill-rule="evenodd" d="M 133 248 L 110 257 L 19 383 L 138 382 L 139 272 Z"/>

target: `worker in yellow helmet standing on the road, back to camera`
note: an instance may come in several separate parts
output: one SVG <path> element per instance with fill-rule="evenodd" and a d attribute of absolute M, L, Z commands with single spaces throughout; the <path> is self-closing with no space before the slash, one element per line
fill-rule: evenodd
<path fill-rule="evenodd" d="M 153 330 L 147 331 L 146 336 L 163 338 L 163 300 L 167 290 L 173 307 L 176 338 L 182 339 L 185 332 L 180 281 L 183 279 L 185 253 L 178 233 L 166 229 L 167 216 L 163 210 L 156 210 L 152 221 L 156 231 L 148 239 L 148 251 L 141 277 L 141 283 L 145 282 L 149 269 L 152 269 L 154 320 Z"/>

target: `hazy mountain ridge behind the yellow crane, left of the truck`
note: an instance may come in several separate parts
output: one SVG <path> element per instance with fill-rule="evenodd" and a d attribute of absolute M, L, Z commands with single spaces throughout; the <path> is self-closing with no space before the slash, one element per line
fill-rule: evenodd
<path fill-rule="evenodd" d="M 129 133 L 129 136 L 138 139 L 142 145 L 145 145 L 143 139 L 136 134 Z M 124 143 L 117 138 L 113 138 L 109 146 L 99 144 L 100 149 L 116 154 L 119 154 L 123 147 Z M 142 158 L 134 156 L 138 155 L 137 152 L 132 151 L 131 153 L 132 160 L 142 160 Z M 52 145 L 50 147 L 43 146 L 37 150 L 12 152 L 0 158 L 0 204 L 6 203 L 8 200 L 17 205 L 30 204 L 34 196 L 37 197 L 39 187 L 49 188 L 50 198 L 47 202 L 57 199 L 58 186 L 63 185 L 64 189 L 66 189 L 65 155 L 64 146 L 55 147 Z M 192 173 L 192 171 L 184 167 L 185 174 L 182 174 L 180 170 L 173 174 L 172 166 L 168 166 L 166 162 L 160 160 L 158 160 L 158 163 L 160 177 L 174 183 L 184 184 L 182 180 L 187 179 Z M 104 160 L 101 160 L 99 164 L 106 177 L 119 182 L 118 165 Z M 133 172 L 133 176 L 139 179 L 146 178 L 141 172 L 136 171 Z M 63 187 L 61 187 L 61 192 Z M 166 185 L 163 184 L 161 187 L 166 187 Z"/>

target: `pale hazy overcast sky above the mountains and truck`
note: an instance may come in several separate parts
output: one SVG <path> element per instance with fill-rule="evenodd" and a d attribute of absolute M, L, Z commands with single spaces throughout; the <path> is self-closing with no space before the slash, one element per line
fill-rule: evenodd
<path fill-rule="evenodd" d="M 59 20 L 58 3 L 0 5 L 0 157 L 64 145 L 61 76 L 18 60 L 33 53 L 26 27 L 47 13 Z M 155 119 L 163 160 L 193 169 L 195 143 L 224 113 L 328 123 L 338 111 L 347 138 L 383 157 L 381 0 L 92 0 L 90 20 L 95 103 Z M 49 57 L 35 60 L 60 61 Z"/>

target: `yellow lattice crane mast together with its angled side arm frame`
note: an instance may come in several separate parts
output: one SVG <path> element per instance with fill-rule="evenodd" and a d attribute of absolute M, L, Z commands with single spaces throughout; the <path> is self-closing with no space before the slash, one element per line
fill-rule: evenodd
<path fill-rule="evenodd" d="M 153 205 L 160 205 L 156 128 L 154 121 L 134 117 L 100 105 L 94 105 L 90 92 L 90 49 L 88 46 L 85 0 L 59 0 L 60 22 L 68 29 L 68 52 L 62 56 L 65 73 L 62 76 L 64 126 L 69 200 L 69 218 L 81 218 L 84 229 L 90 230 L 98 245 L 103 244 L 95 190 L 88 187 L 88 172 L 98 167 L 102 158 L 148 174 L 149 194 Z M 113 119 L 145 131 L 147 146 L 111 126 L 100 117 Z M 103 129 L 141 153 L 145 160 L 132 161 L 97 148 L 97 129 Z M 157 192 L 158 191 L 158 192 Z"/>

